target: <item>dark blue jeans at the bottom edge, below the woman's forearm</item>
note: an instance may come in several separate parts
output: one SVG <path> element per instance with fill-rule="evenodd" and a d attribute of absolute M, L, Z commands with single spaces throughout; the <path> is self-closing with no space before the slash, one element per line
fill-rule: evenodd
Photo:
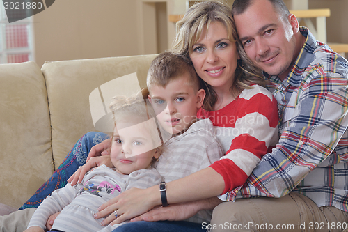
<path fill-rule="evenodd" d="M 185 221 L 129 222 L 112 232 L 203 232 L 202 224 Z"/>

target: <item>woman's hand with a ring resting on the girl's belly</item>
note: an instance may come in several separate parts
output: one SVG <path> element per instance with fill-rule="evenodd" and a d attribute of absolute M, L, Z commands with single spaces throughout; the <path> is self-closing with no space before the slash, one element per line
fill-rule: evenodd
<path fill-rule="evenodd" d="M 153 187 L 159 188 L 158 185 Z M 111 223 L 111 225 L 118 224 L 127 219 L 139 216 L 144 212 L 148 212 L 148 210 L 155 206 L 155 203 L 152 203 L 155 201 L 151 201 L 151 199 L 161 199 L 159 190 L 158 194 L 150 194 L 153 187 L 145 190 L 133 187 L 130 190 L 122 192 L 120 195 L 102 204 L 102 206 L 98 208 L 100 212 L 95 215 L 95 219 L 109 215 L 109 217 L 106 217 L 102 222 L 102 226 L 106 226 L 109 223 Z M 115 210 L 117 211 L 118 217 L 114 215 Z"/>

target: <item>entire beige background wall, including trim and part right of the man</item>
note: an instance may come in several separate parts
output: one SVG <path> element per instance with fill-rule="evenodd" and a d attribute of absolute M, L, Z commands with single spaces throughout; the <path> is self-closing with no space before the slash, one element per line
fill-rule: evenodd
<path fill-rule="evenodd" d="M 185 2 L 57 0 L 33 16 L 35 61 L 41 66 L 45 61 L 163 52 L 175 36 L 167 15 L 184 13 Z M 308 5 L 331 8 L 327 40 L 348 43 L 348 0 L 308 0 Z"/>

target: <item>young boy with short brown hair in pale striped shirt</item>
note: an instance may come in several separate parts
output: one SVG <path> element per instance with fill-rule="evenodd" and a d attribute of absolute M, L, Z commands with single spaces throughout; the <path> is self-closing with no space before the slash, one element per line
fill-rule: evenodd
<path fill-rule="evenodd" d="M 150 65 L 147 86 L 157 121 L 173 134 L 154 166 L 164 181 L 189 176 L 219 160 L 224 153 L 212 121 L 196 118 L 205 91 L 189 60 L 171 52 L 159 54 Z M 188 220 L 202 223 L 210 219 L 211 212 L 200 211 Z"/>

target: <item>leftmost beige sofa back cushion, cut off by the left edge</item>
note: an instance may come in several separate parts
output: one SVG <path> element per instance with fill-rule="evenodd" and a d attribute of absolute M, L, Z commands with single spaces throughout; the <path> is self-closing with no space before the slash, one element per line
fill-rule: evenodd
<path fill-rule="evenodd" d="M 0 65 L 0 203 L 19 208 L 54 170 L 45 79 L 34 62 Z"/>

